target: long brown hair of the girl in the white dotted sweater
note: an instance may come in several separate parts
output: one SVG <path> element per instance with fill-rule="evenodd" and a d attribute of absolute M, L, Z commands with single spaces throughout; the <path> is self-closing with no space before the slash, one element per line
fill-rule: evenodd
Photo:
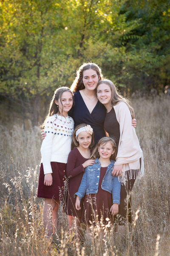
<path fill-rule="evenodd" d="M 59 107 L 58 105 L 55 103 L 55 100 L 60 100 L 61 97 L 62 97 L 62 94 L 63 92 L 65 91 L 69 91 L 71 94 L 72 94 L 72 91 L 70 90 L 70 88 L 66 87 L 66 86 L 63 86 L 63 87 L 59 87 L 57 88 L 55 91 L 54 91 L 54 95 L 51 99 L 51 102 L 50 102 L 50 106 L 49 106 L 49 111 L 48 111 L 48 115 L 45 117 L 45 120 L 43 122 L 43 124 L 40 126 L 41 129 L 43 130 L 44 127 L 45 127 L 45 123 L 46 123 L 46 120 L 49 116 L 51 115 L 55 115 L 57 113 L 59 113 Z M 72 94 L 73 96 L 73 94 Z M 62 114 L 62 113 L 59 113 L 59 114 Z M 57 118 L 57 117 L 56 117 Z"/>

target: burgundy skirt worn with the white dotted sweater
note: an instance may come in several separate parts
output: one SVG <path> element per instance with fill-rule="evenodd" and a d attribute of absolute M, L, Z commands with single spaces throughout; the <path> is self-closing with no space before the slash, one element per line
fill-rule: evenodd
<path fill-rule="evenodd" d="M 51 162 L 53 184 L 51 186 L 44 185 L 44 169 L 41 163 L 38 181 L 37 197 L 62 200 L 64 194 L 64 181 L 66 164 L 59 162 Z"/>

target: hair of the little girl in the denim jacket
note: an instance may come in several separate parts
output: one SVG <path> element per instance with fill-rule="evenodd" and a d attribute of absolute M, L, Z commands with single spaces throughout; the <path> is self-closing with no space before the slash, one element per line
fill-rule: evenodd
<path fill-rule="evenodd" d="M 105 145 L 107 142 L 110 142 L 112 147 L 113 147 L 113 150 L 115 150 L 116 152 L 116 142 L 110 138 L 110 137 L 103 137 L 99 140 L 99 142 L 96 144 L 96 147 L 94 148 L 92 154 L 91 154 L 91 157 L 90 159 L 96 159 L 96 158 L 99 158 L 100 155 L 99 155 L 99 150 L 98 150 L 98 147 L 100 145 Z M 115 159 L 115 153 L 113 155 L 111 155 L 110 159 L 114 160 Z"/>

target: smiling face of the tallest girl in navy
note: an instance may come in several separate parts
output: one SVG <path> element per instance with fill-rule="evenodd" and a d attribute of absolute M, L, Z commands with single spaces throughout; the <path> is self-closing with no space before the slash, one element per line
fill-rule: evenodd
<path fill-rule="evenodd" d="M 87 69 L 83 71 L 83 84 L 85 85 L 85 89 L 93 91 L 96 88 L 97 83 L 99 82 L 99 77 L 95 70 Z"/>

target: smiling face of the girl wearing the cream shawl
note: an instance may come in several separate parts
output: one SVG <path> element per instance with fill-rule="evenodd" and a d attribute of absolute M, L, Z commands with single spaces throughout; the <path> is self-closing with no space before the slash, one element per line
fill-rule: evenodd
<path fill-rule="evenodd" d="M 109 85 L 102 83 L 97 87 L 97 98 L 105 106 L 109 105 L 111 100 L 111 88 Z"/>

